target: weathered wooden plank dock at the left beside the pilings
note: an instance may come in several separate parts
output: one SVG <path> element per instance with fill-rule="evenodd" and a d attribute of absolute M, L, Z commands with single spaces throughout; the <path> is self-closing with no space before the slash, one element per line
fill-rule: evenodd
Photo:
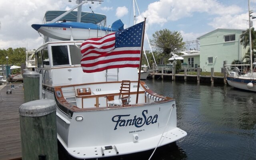
<path fill-rule="evenodd" d="M 18 86 L 22 83 L 13 83 Z M 6 94 L 11 86 L 0 85 L 0 160 L 21 160 L 19 107 L 24 103 L 23 86 Z"/>

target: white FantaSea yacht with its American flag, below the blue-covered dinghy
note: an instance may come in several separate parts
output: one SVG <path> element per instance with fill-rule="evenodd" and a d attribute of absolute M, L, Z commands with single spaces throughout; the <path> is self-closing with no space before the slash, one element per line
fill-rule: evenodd
<path fill-rule="evenodd" d="M 78 0 L 73 7 L 78 8 L 78 23 L 82 23 L 81 5 L 87 1 Z M 54 21 L 62 20 L 73 10 Z M 35 51 L 35 71 L 43 79 L 42 98 L 56 101 L 57 138 L 71 156 L 87 159 L 131 154 L 187 135 L 177 127 L 175 99 L 155 93 L 140 81 L 137 67 L 141 66 L 142 24 L 145 23 L 106 36 L 85 36 L 94 36 L 88 40 L 74 40 L 72 34 L 69 40 L 63 40 L 60 32 L 52 32 L 58 36 L 51 37 L 58 41 L 47 41 Z M 118 36 L 127 32 L 138 34 L 138 42 L 122 46 L 128 44 L 118 41 Z M 96 41 L 102 43 L 98 45 L 101 48 L 94 47 Z"/>

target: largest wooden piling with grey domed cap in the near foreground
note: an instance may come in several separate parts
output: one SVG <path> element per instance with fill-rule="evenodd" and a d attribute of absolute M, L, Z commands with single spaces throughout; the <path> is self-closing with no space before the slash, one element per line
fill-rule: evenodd
<path fill-rule="evenodd" d="M 19 108 L 22 160 L 58 160 L 56 102 L 34 100 Z"/>

